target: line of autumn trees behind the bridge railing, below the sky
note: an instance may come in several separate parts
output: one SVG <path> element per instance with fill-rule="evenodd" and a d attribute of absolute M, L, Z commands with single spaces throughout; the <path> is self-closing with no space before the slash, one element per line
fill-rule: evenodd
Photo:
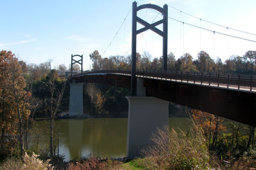
<path fill-rule="evenodd" d="M 106 69 L 131 69 L 131 55 L 101 57 L 98 50 L 90 55 L 92 67 L 95 70 Z M 204 51 L 197 54 L 196 60 L 186 53 L 177 60 L 171 52 L 167 55 L 167 70 L 190 71 L 190 72 L 218 72 L 236 74 L 254 74 L 256 69 L 256 51 L 249 50 L 243 56 L 232 55 L 225 62 L 220 57 L 213 60 Z M 162 57 L 154 57 L 148 53 L 137 53 L 136 68 L 141 70 L 162 70 Z"/>

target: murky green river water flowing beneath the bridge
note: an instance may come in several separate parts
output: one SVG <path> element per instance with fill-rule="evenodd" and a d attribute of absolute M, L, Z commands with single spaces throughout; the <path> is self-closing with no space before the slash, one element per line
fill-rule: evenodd
<path fill-rule="evenodd" d="M 125 157 L 127 118 L 86 118 L 55 120 L 59 128 L 59 154 L 65 161 L 89 155 L 99 157 Z M 187 130 L 188 118 L 170 117 L 170 128 Z M 49 148 L 50 121 L 36 121 L 43 135 L 39 138 L 41 148 Z M 55 134 L 57 135 L 57 134 Z M 32 138 L 31 143 L 36 143 Z"/>

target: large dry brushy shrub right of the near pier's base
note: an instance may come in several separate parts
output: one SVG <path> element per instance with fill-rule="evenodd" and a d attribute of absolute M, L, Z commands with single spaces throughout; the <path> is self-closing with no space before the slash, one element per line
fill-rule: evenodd
<path fill-rule="evenodd" d="M 209 169 L 209 151 L 202 130 L 198 127 L 186 135 L 166 126 L 157 129 L 151 140 L 155 145 L 142 149 L 145 169 Z"/>

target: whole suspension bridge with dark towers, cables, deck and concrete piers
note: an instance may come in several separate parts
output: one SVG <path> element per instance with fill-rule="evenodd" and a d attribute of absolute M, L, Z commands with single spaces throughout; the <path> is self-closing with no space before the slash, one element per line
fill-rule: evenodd
<path fill-rule="evenodd" d="M 163 16 L 163 19 L 156 22 L 153 21 L 153 23 L 150 24 L 139 18 L 137 15 L 137 12 L 143 9 L 156 11 L 157 14 Z M 130 11 L 131 9 L 129 12 Z M 70 115 L 83 114 L 82 91 L 84 83 L 103 83 L 131 89 L 131 96 L 126 97 L 127 100 L 129 100 L 129 121 L 127 129 L 128 157 L 138 156 L 141 148 L 152 144 L 152 141 L 149 140 L 151 133 L 155 132 L 157 127 L 161 128 L 163 125 L 168 124 L 169 101 L 190 108 L 199 109 L 203 112 L 226 117 L 230 120 L 256 126 L 255 75 L 167 70 L 168 19 L 190 25 L 191 27 L 210 31 L 213 35 L 218 33 L 220 35 L 256 43 L 256 41 L 251 39 L 212 31 L 210 29 L 173 19 L 168 16 L 167 5 L 160 7 L 153 4 L 140 4 L 140 6 L 137 6 L 137 2 L 133 2 L 131 70 L 93 70 L 83 72 L 82 69 L 81 74 L 76 75 L 72 75 L 71 72 L 69 104 Z M 207 20 L 203 21 L 210 22 Z M 137 30 L 137 22 L 144 27 Z M 123 23 L 121 24 L 121 27 Z M 159 24 L 163 25 L 162 30 L 157 28 L 157 25 Z M 216 23 L 212 24 L 219 25 Z M 219 25 L 219 27 L 224 26 Z M 226 28 L 240 31 L 233 28 Z M 137 35 L 146 30 L 154 31 L 163 38 L 163 65 L 161 71 L 140 70 L 136 68 Z M 243 31 L 243 33 L 250 34 L 245 31 Z M 251 35 L 253 34 L 251 33 Z M 114 38 L 111 40 L 109 46 Z M 106 50 L 103 55 L 106 53 Z M 81 59 L 75 60 L 72 55 L 71 65 L 75 63 L 82 65 L 83 56 L 76 56 L 81 57 Z"/>

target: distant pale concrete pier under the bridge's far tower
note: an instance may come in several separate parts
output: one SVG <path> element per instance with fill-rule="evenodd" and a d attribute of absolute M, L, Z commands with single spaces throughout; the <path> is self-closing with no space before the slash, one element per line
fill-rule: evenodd
<path fill-rule="evenodd" d="M 83 115 L 83 84 L 70 83 L 69 116 Z"/>

